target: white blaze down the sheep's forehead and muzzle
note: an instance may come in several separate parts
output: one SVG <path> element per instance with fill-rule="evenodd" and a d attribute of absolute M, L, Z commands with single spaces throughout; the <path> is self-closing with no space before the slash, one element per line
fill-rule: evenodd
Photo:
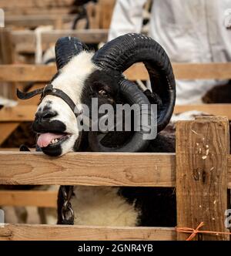
<path fill-rule="evenodd" d="M 66 93 L 75 105 L 81 106 L 82 89 L 85 85 L 85 80 L 92 74 L 97 68 L 92 62 L 93 53 L 81 52 L 78 56 L 74 56 L 68 64 L 62 69 L 59 69 L 59 76 L 52 81 L 53 88 L 61 89 Z M 37 111 L 43 111 L 45 106 L 49 106 L 52 111 L 58 113 L 50 119 L 59 120 L 65 124 L 65 133 L 71 134 L 69 140 L 62 143 L 62 154 L 72 151 L 75 141 L 79 137 L 79 129 L 77 120 L 72 109 L 65 101 L 57 96 L 47 95 L 42 99 L 42 103 L 39 104 Z"/>

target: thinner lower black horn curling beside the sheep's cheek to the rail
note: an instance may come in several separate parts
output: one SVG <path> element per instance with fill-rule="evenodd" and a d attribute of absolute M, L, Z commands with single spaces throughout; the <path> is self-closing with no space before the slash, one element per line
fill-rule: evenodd
<path fill-rule="evenodd" d="M 141 152 L 146 150 L 149 146 L 150 140 L 144 140 L 143 136 L 146 133 L 147 126 L 151 123 L 155 116 L 152 116 L 154 113 L 151 111 L 151 106 L 149 99 L 144 93 L 136 86 L 136 83 L 132 83 L 127 79 L 122 79 L 119 83 L 122 96 L 127 100 L 127 102 L 132 104 L 138 104 L 139 108 L 142 111 L 143 107 L 146 107 L 148 111 L 142 112 L 142 120 L 146 120 L 146 123 L 142 123 L 141 120 L 139 125 L 139 131 L 136 131 L 132 140 L 129 140 L 126 145 L 121 147 L 105 147 L 100 143 L 99 136 L 97 132 L 89 132 L 89 146 L 93 151 L 97 152 Z"/>

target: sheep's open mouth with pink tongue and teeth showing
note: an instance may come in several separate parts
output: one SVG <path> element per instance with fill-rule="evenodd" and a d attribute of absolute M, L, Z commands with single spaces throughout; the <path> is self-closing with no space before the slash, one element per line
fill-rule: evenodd
<path fill-rule="evenodd" d="M 69 133 L 38 133 L 39 137 L 37 144 L 41 148 L 56 147 L 68 140 L 71 134 Z"/>

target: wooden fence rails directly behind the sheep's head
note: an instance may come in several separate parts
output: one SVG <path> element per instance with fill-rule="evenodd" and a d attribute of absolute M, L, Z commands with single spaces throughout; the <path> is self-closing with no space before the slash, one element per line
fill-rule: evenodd
<path fill-rule="evenodd" d="M 231 63 L 176 64 L 173 63 L 176 79 L 230 79 Z M 45 85 L 55 74 L 55 66 L 0 65 L 0 83 L 35 82 L 39 87 Z M 147 80 L 149 75 L 145 67 L 138 63 L 125 72 L 128 79 Z M 38 87 L 38 85 L 37 85 Z M 39 96 L 27 101 L 18 100 L 18 106 L 4 107 L 0 110 L 0 145 L 18 127 L 19 123 L 34 120 Z M 231 120 L 231 104 L 203 104 L 176 106 L 175 113 L 199 110 L 216 116 L 227 116 Z"/>

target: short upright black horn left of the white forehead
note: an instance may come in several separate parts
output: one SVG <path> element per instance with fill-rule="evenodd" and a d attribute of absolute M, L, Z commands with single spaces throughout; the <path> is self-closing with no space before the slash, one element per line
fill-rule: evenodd
<path fill-rule="evenodd" d="M 79 52 L 88 50 L 87 46 L 75 37 L 62 37 L 55 44 L 55 60 L 57 69 L 62 69 Z"/>

